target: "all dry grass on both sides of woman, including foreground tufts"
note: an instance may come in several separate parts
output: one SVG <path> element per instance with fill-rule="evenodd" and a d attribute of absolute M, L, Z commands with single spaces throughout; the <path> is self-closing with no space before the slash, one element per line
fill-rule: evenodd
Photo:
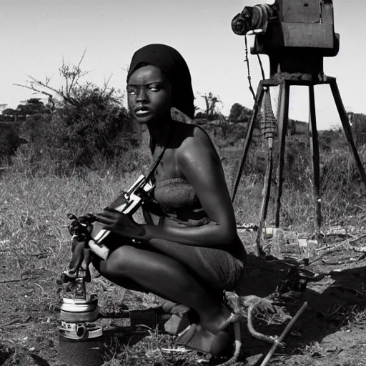
<path fill-rule="evenodd" d="M 219 151 L 229 187 L 237 170 L 241 148 L 237 146 Z M 263 155 L 258 151 L 249 155 L 234 202 L 239 224 L 258 222 L 264 173 Z M 322 172 L 325 172 L 322 181 L 322 214 L 325 225 L 345 222 L 359 225 L 365 219 L 366 211 L 362 210 L 365 207 L 365 195 L 362 195 L 357 171 L 349 163 L 348 156 L 347 149 L 322 154 Z M 361 157 L 365 162 L 366 149 L 362 149 Z M 282 225 L 311 232 L 314 212 L 308 161 L 298 159 L 297 163 L 284 186 Z M 303 173 L 302 177 L 299 176 L 300 172 Z M 15 164 L 0 177 L 0 254 L 3 258 L 11 258 L 19 270 L 34 266 L 29 259 L 38 257 L 43 261 L 43 267 L 60 273 L 68 264 L 70 252 L 66 214 L 99 211 L 122 189 L 128 188 L 139 174 L 119 175 L 106 167 L 99 172 L 74 173 L 69 177 L 56 177 L 44 172 L 36 174 L 27 166 L 26 157 L 18 155 Z M 303 182 L 303 186 L 300 187 L 298 182 Z M 137 219 L 140 220 L 141 216 Z M 267 224 L 271 224 L 272 219 L 273 209 L 270 206 Z M 154 307 L 161 300 L 153 295 L 112 286 L 99 279 L 93 286 L 94 290 L 101 293 L 102 308 L 106 305 L 111 312 L 118 312 L 126 302 L 134 303 L 136 308 L 146 308 Z M 352 322 L 365 323 L 365 313 L 355 310 Z M 115 345 L 112 359 L 104 365 L 192 365 L 192 357 L 196 356 L 164 355 L 162 348 L 171 346 L 172 337 L 149 330 L 144 342 L 132 347 Z M 311 355 L 317 352 L 317 345 L 307 346 L 302 352 L 302 360 L 298 365 L 312 365 L 314 357 Z M 303 360 L 309 363 L 301 363 Z"/>

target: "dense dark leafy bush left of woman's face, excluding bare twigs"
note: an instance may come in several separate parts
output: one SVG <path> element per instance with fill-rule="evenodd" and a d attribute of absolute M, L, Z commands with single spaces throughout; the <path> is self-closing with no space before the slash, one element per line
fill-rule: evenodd
<path fill-rule="evenodd" d="M 134 169 L 141 132 L 117 91 L 85 84 L 72 93 L 76 102 L 63 102 L 51 114 L 24 123 L 30 163 L 46 171 L 53 167 L 56 174 L 97 169 L 114 159 L 123 160 L 122 170 Z"/>

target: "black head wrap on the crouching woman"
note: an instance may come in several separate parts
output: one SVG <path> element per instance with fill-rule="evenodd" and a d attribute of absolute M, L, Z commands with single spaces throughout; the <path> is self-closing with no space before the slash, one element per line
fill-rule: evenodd
<path fill-rule="evenodd" d="M 148 44 L 137 50 L 132 56 L 127 82 L 134 71 L 145 65 L 159 67 L 172 85 L 173 105 L 179 111 L 194 117 L 194 95 L 191 74 L 186 61 L 176 49 L 165 44 Z"/>

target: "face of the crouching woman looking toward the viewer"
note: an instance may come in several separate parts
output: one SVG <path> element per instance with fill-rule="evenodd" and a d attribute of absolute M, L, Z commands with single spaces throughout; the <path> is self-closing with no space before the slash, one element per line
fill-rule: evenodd
<path fill-rule="evenodd" d="M 170 116 L 172 88 L 157 66 L 142 66 L 132 73 L 127 84 L 129 112 L 141 124 Z"/>

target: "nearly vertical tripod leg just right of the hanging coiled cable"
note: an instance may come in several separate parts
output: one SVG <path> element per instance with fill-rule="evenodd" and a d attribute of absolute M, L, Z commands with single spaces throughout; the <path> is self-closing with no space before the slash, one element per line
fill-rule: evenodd
<path fill-rule="evenodd" d="M 280 209 L 282 196 L 282 181 L 283 181 L 283 167 L 285 164 L 285 142 L 287 134 L 287 125 L 289 122 L 289 99 L 290 99 L 290 84 L 283 81 L 284 85 L 281 88 L 282 96 L 280 98 L 281 104 L 278 117 L 278 170 L 277 170 L 277 194 L 276 194 L 276 211 L 274 223 L 276 227 L 280 227 Z"/>

